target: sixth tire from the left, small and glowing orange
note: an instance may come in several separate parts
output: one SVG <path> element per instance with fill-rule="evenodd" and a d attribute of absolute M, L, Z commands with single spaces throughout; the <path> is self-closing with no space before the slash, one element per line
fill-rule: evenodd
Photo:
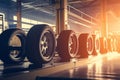
<path fill-rule="evenodd" d="M 108 52 L 107 39 L 105 37 L 100 37 L 100 53 L 105 54 Z"/>

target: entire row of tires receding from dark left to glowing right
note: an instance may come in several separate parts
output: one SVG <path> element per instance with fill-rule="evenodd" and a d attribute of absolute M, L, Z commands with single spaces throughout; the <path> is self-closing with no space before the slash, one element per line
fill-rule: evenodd
<path fill-rule="evenodd" d="M 34 25 L 27 34 L 21 29 L 7 29 L 0 35 L 0 59 L 4 64 L 18 64 L 27 58 L 31 63 L 50 62 L 57 52 L 61 61 L 87 58 L 89 55 L 120 50 L 119 37 L 99 38 L 88 33 L 78 37 L 72 30 L 64 30 L 56 38 L 45 24 Z"/>

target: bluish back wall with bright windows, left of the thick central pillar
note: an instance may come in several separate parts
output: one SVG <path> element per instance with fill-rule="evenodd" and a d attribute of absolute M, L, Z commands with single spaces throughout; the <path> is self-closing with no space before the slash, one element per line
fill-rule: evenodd
<path fill-rule="evenodd" d="M 16 27 L 16 3 L 12 0 L 0 1 L 0 13 L 5 14 L 5 27 Z M 55 25 L 55 15 L 22 7 L 22 28 L 30 28 L 34 24 Z"/>

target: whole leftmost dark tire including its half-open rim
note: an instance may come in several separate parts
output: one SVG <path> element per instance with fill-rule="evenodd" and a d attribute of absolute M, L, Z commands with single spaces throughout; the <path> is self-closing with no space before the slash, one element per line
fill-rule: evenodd
<path fill-rule="evenodd" d="M 15 45 L 18 44 L 19 41 L 17 40 L 17 43 L 15 43 L 13 38 L 14 40 L 19 39 L 20 47 L 15 48 Z M 21 29 L 7 29 L 2 32 L 0 35 L 0 59 L 4 62 L 4 64 L 16 64 L 24 61 L 25 39 L 26 35 Z M 11 45 L 13 44 L 12 41 L 14 45 Z M 19 54 L 17 54 L 17 51 Z"/>

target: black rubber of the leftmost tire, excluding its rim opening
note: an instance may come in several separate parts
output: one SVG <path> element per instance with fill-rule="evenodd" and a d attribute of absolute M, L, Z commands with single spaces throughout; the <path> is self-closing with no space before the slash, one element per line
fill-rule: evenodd
<path fill-rule="evenodd" d="M 12 59 L 10 57 L 10 51 L 9 51 L 9 42 L 12 39 L 13 36 L 16 36 L 17 34 L 20 35 L 20 37 L 18 37 L 20 39 L 21 42 L 21 47 L 22 47 L 22 52 L 20 52 L 20 58 L 19 59 Z M 20 63 L 24 60 L 25 58 L 25 33 L 24 31 L 22 31 L 21 29 L 17 29 L 17 28 L 13 28 L 13 29 L 8 29 L 5 30 L 2 34 L 1 34 L 1 60 L 4 63 Z"/>

